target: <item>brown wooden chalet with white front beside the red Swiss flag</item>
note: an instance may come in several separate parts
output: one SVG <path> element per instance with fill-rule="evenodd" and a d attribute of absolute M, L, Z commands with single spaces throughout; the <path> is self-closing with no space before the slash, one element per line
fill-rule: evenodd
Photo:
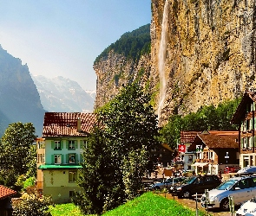
<path fill-rule="evenodd" d="M 188 151 L 194 152 L 196 159 L 191 166 L 195 173 L 218 175 L 226 167 L 239 168 L 238 131 L 204 131 L 194 137 Z"/>

